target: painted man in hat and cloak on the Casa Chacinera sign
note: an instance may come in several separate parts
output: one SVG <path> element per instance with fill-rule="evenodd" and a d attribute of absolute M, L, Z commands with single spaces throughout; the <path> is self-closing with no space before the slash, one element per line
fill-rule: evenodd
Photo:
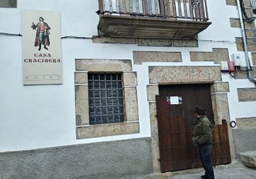
<path fill-rule="evenodd" d="M 36 29 L 35 47 L 39 46 L 38 51 L 41 50 L 42 44 L 44 45 L 44 49 L 48 50 L 46 45 L 50 45 L 49 29 L 51 29 L 51 27 L 49 27 L 48 24 L 44 22 L 43 17 L 39 17 L 39 22 L 37 24 L 34 24 L 34 22 L 32 22 L 31 28 L 34 30 Z"/>

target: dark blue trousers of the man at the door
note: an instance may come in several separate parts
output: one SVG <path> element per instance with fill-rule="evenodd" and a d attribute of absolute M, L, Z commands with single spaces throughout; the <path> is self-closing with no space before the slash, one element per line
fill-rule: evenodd
<path fill-rule="evenodd" d="M 211 164 L 211 148 L 211 143 L 199 145 L 200 158 L 205 169 L 205 176 L 209 179 L 214 179 L 214 173 Z"/>

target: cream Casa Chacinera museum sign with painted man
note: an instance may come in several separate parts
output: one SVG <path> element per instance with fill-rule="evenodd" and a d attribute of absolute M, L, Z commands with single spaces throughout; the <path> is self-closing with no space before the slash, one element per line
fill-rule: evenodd
<path fill-rule="evenodd" d="M 22 12 L 23 84 L 62 84 L 60 13 Z"/>

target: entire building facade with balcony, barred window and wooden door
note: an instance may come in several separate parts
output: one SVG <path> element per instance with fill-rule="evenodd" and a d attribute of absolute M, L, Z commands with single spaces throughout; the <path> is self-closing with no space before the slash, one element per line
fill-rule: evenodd
<path fill-rule="evenodd" d="M 1 1 L 0 178 L 164 178 L 200 167 L 195 105 L 215 125 L 214 164 L 255 150 L 254 7 L 237 2 Z M 27 10 L 60 14 L 61 84 L 24 84 Z M 55 21 L 44 19 L 51 41 Z M 45 47 L 35 56 L 54 41 Z"/>

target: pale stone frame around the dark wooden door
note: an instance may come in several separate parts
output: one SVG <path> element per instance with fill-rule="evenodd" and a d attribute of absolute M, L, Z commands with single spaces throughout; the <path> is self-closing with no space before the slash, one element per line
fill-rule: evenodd
<path fill-rule="evenodd" d="M 205 70 L 205 72 L 202 72 L 202 70 Z M 170 71 L 172 71 L 172 73 L 170 73 Z M 208 73 L 208 71 L 210 71 L 209 73 L 212 72 L 213 75 L 209 74 L 207 75 L 207 78 L 205 78 L 205 74 Z M 183 74 L 186 73 L 186 76 L 179 75 L 179 72 L 182 72 Z M 150 113 L 153 169 L 154 173 L 160 173 L 161 163 L 159 161 L 159 139 L 156 117 L 156 95 L 159 95 L 159 85 L 199 83 L 210 84 L 212 111 L 214 113 L 214 122 L 216 125 L 221 125 L 223 119 L 227 120 L 227 123 L 230 122 L 227 97 L 229 86 L 228 82 L 223 82 L 221 79 L 220 66 L 148 66 L 148 76 L 150 79 L 150 84 L 147 85 L 147 101 Z M 229 125 L 228 138 L 231 159 L 235 159 L 236 155 L 234 150 L 234 140 L 232 137 L 232 130 Z"/>

